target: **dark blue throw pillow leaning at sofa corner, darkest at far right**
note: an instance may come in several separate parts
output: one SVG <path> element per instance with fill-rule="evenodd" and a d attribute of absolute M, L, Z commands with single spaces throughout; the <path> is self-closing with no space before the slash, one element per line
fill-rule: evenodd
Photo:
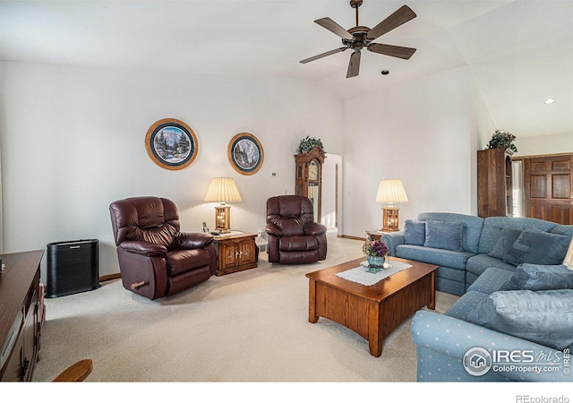
<path fill-rule="evenodd" d="M 570 236 L 527 228 L 503 256 L 503 261 L 515 266 L 521 263 L 561 264 L 570 243 Z"/>

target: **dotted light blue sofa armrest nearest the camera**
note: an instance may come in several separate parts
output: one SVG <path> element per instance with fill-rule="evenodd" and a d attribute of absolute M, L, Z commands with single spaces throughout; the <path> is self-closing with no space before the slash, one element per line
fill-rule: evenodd
<path fill-rule="evenodd" d="M 501 368 L 495 371 L 492 366 L 489 372 L 497 373 L 500 377 L 526 382 L 573 382 L 573 375 L 565 371 L 563 366 L 563 352 L 533 341 L 509 336 L 448 315 L 422 310 L 415 313 L 411 331 L 412 340 L 417 347 L 431 350 L 435 356 L 449 356 L 458 362 L 458 373 L 463 373 L 466 378 L 473 378 L 475 381 L 480 381 L 480 377 L 469 375 L 463 366 L 463 360 L 468 350 L 482 347 L 490 354 L 496 350 L 502 352 L 501 356 L 505 352 L 515 355 L 515 362 L 512 362 L 509 356 L 503 356 L 503 359 L 493 363 L 500 364 Z M 424 358 L 418 357 L 418 361 L 421 359 Z M 432 365 L 427 362 L 429 360 L 425 361 L 424 365 Z M 516 364 L 517 361 L 522 363 Z M 436 363 L 435 372 L 440 371 L 439 365 Z M 525 366 L 541 370 L 525 371 Z M 546 371 L 548 367 L 554 369 L 557 366 L 560 366 L 560 371 Z"/>

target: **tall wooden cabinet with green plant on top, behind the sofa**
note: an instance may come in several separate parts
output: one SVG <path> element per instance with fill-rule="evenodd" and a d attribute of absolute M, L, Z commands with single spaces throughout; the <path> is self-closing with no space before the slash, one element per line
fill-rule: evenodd
<path fill-rule="evenodd" d="M 477 215 L 513 215 L 511 156 L 503 149 L 477 151 Z"/>

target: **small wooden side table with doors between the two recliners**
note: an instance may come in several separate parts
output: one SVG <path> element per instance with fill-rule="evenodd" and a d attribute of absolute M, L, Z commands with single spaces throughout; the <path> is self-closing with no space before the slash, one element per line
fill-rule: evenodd
<path fill-rule="evenodd" d="M 231 231 L 214 236 L 217 249 L 217 276 L 235 273 L 257 267 L 259 248 L 255 244 L 256 234 Z"/>

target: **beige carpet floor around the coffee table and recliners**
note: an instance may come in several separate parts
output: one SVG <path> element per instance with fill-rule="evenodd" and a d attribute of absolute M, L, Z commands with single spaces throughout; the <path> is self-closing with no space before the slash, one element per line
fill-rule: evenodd
<path fill-rule="evenodd" d="M 91 358 L 88 382 L 415 382 L 410 321 L 380 357 L 352 330 L 308 322 L 304 276 L 363 255 L 362 242 L 329 236 L 325 262 L 269 264 L 150 301 L 120 280 L 46 300 L 47 322 L 34 382 Z M 438 293 L 437 311 L 456 296 Z"/>

